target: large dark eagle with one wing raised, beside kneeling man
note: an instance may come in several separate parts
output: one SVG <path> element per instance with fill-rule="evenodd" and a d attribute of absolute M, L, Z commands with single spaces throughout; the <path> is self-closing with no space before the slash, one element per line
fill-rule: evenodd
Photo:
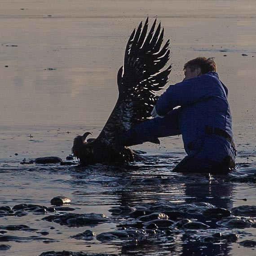
<path fill-rule="evenodd" d="M 148 32 L 148 21 L 134 29 L 124 53 L 124 65 L 117 74 L 119 96 L 104 128 L 96 139 L 86 137 L 90 132 L 74 139 L 72 152 L 80 164 L 125 163 L 138 155 L 119 145 L 116 137 L 144 122 L 158 99 L 155 92 L 168 81 L 171 66 L 166 66 L 170 50 L 169 40 L 163 45 L 164 29 L 156 26 L 156 19 Z M 143 27 L 142 27 L 143 26 Z"/>

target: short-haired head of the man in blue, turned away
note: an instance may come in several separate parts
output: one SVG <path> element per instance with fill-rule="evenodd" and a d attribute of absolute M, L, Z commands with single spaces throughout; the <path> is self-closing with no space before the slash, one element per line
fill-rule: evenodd
<path fill-rule="evenodd" d="M 206 74 L 209 71 L 216 72 L 216 70 L 216 63 L 213 61 L 213 58 L 197 57 L 185 63 L 183 68 L 184 80 Z"/>

